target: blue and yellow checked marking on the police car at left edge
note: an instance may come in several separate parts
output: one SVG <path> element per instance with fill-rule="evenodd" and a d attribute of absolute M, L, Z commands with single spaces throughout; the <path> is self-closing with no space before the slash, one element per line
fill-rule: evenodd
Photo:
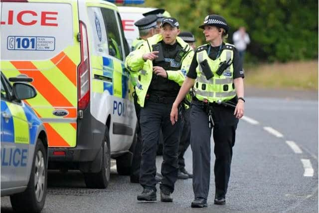
<path fill-rule="evenodd" d="M 2 142 L 28 144 L 30 142 L 29 125 L 23 107 L 1 101 L 1 112 L 10 115 L 10 118 L 4 121 L 6 124 L 1 124 L 3 130 Z M 34 137 L 35 134 L 32 137 L 33 140 L 31 140 L 32 144 L 34 143 Z"/>

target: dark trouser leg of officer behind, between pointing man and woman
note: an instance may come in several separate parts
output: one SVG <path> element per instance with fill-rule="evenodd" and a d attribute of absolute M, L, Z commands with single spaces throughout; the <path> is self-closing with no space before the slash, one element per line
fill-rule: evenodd
<path fill-rule="evenodd" d="M 178 147 L 178 168 L 182 170 L 185 168 L 184 154 L 190 144 L 190 107 L 184 110 L 182 132 Z"/>

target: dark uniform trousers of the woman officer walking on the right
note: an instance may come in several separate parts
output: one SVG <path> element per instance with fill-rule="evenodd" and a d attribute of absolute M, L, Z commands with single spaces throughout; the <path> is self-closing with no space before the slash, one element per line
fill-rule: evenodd
<path fill-rule="evenodd" d="M 214 154 L 215 154 L 215 193 L 224 197 L 227 193 L 230 165 L 235 144 L 235 131 L 238 119 L 233 115 L 234 108 L 215 105 L 212 108 Z M 208 115 L 202 103 L 192 101 L 190 113 L 190 146 L 193 153 L 193 191 L 195 198 L 207 199 L 210 181 L 210 137 Z"/>

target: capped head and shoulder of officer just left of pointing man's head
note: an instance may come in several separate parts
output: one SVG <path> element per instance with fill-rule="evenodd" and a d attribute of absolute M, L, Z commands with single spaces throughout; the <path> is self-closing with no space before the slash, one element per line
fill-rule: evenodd
<path fill-rule="evenodd" d="M 147 15 L 134 23 L 139 28 L 139 35 L 132 43 L 132 51 L 138 49 L 143 42 L 157 33 L 157 15 Z"/>

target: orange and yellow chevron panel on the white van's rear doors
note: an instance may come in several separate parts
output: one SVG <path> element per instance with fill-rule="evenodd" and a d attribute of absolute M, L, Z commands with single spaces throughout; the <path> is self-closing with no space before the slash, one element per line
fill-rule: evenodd
<path fill-rule="evenodd" d="M 77 66 L 63 51 L 45 61 L 1 61 L 7 77 L 26 74 L 38 95 L 26 101 L 43 121 L 49 147 L 76 146 Z M 56 116 L 56 110 L 67 111 Z"/>

